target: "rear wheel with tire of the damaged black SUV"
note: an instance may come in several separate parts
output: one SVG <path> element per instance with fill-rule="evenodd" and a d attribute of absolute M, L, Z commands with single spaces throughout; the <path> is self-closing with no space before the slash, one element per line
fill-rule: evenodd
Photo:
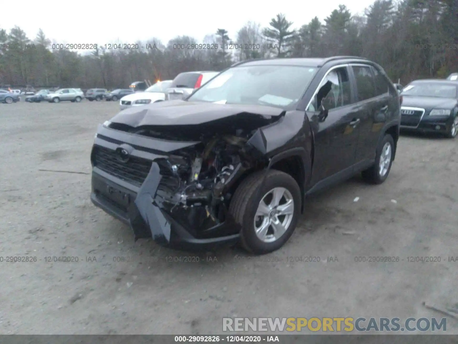
<path fill-rule="evenodd" d="M 363 179 L 371 184 L 382 184 L 388 178 L 393 157 L 393 136 L 386 134 L 377 147 L 374 165 L 361 173 Z"/>

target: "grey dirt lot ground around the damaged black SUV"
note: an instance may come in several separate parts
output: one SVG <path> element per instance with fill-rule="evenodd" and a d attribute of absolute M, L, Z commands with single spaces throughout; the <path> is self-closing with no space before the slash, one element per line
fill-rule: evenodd
<path fill-rule="evenodd" d="M 458 261 L 448 261 L 458 256 L 458 139 L 403 136 L 386 183 L 354 178 L 308 200 L 293 237 L 273 254 L 250 260 L 227 249 L 168 262 L 189 255 L 134 243 L 89 200 L 96 126 L 118 107 L 0 104 L 1 334 L 221 333 L 224 316 L 441 318 L 422 302 L 458 302 Z M 46 261 L 53 256 L 79 261 Z M 451 317 L 447 333 L 458 333 Z"/>

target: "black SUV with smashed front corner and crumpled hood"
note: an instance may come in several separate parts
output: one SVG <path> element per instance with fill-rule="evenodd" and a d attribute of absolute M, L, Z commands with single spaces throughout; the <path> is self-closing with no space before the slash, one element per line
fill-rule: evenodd
<path fill-rule="evenodd" d="M 185 100 L 99 125 L 91 200 L 135 239 L 268 253 L 289 239 L 309 194 L 358 172 L 383 183 L 399 124 L 398 92 L 374 62 L 240 62 Z"/>

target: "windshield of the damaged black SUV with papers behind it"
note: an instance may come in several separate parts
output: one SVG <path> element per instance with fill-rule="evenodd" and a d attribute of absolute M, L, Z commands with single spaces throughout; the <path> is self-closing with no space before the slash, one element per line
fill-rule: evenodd
<path fill-rule="evenodd" d="M 297 103 L 316 70 L 299 66 L 234 67 L 203 85 L 188 100 L 284 108 Z"/>

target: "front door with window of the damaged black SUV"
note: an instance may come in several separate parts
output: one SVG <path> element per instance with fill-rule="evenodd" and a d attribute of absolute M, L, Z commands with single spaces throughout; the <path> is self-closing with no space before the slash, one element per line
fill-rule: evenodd
<path fill-rule="evenodd" d="M 307 108 L 315 139 L 312 185 L 338 172 L 351 175 L 353 171 L 360 112 L 352 100 L 349 67 L 341 66 L 328 72 Z"/>

